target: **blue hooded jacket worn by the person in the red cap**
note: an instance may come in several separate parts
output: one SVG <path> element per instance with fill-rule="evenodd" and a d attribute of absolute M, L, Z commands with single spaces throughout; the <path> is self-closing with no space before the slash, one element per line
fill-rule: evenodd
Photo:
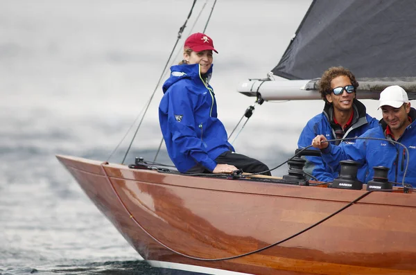
<path fill-rule="evenodd" d="M 206 76 L 211 73 L 212 66 Z M 187 172 L 197 163 L 214 170 L 214 159 L 234 148 L 217 118 L 214 91 L 208 79 L 200 75 L 199 64 L 171 66 L 171 76 L 162 89 L 159 124 L 177 170 Z"/>

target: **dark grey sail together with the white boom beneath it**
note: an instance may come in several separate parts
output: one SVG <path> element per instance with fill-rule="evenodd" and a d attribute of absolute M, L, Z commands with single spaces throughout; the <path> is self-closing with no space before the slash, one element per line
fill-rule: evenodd
<path fill-rule="evenodd" d="M 361 98 L 401 85 L 415 99 L 415 14 L 414 0 L 314 0 L 268 78 L 246 80 L 237 90 L 264 100 L 319 99 L 318 78 L 344 66 L 358 78 Z"/>

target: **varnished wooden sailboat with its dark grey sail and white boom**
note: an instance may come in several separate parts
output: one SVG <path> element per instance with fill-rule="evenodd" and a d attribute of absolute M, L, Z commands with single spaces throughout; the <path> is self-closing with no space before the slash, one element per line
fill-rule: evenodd
<path fill-rule="evenodd" d="M 415 10 L 410 0 L 315 0 L 272 73 L 238 90 L 265 104 L 318 99 L 322 71 L 343 65 L 362 77 L 358 98 L 395 84 L 414 99 Z M 140 158 L 128 166 L 57 157 L 161 272 L 416 274 L 416 195 L 405 185 L 328 188 L 290 166 L 283 178 L 193 177 Z"/>

